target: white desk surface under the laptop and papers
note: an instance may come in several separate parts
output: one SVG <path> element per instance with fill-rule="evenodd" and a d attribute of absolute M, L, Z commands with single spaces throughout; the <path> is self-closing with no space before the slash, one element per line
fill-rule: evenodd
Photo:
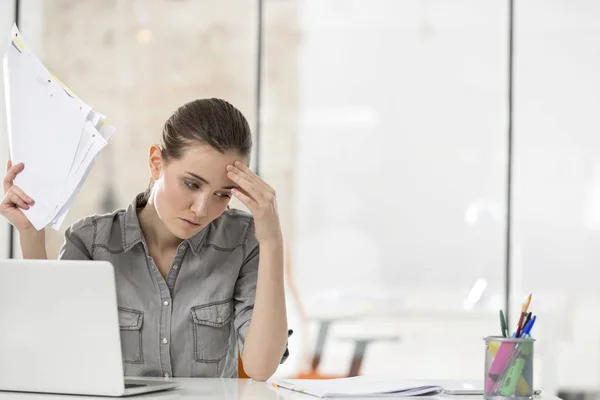
<path fill-rule="evenodd" d="M 180 382 L 178 389 L 166 392 L 149 393 L 124 399 L 145 400 L 202 400 L 202 399 L 225 399 L 225 400 L 311 400 L 317 397 L 292 392 L 286 389 L 276 389 L 264 382 L 253 382 L 247 379 L 218 379 L 218 378 L 175 378 Z M 76 399 L 98 399 L 99 397 L 61 396 L 51 394 L 30 394 L 0 392 L 0 400 L 76 400 Z M 396 399 L 396 397 L 386 397 Z M 397 399 L 405 399 L 398 397 Z M 414 399 L 414 398 L 413 398 Z M 432 400 L 480 400 L 481 396 L 434 396 L 427 397 Z M 539 400 L 559 400 L 552 395 L 542 395 Z M 353 398 L 357 400 L 357 398 Z"/>

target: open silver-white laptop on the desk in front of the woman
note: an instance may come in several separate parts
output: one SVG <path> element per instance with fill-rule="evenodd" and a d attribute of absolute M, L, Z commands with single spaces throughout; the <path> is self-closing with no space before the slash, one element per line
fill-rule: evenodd
<path fill-rule="evenodd" d="M 0 260 L 0 390 L 121 397 L 177 387 L 123 375 L 112 264 Z"/>

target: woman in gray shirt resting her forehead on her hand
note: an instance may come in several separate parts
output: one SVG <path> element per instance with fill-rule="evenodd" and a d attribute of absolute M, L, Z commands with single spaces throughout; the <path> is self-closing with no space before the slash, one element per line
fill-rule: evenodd
<path fill-rule="evenodd" d="M 106 260 L 117 281 L 126 375 L 268 379 L 287 353 L 283 239 L 275 192 L 248 168 L 246 118 L 220 99 L 195 100 L 150 148 L 152 180 L 127 209 L 85 217 L 65 232 L 61 259 Z M 3 215 L 24 258 L 45 259 L 34 204 L 4 178 Z M 252 212 L 229 209 L 235 196 Z M 260 250 L 260 257 L 259 257 Z"/>

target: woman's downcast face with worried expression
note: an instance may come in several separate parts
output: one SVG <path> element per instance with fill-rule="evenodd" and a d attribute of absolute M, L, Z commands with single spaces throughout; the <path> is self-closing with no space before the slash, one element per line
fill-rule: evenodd
<path fill-rule="evenodd" d="M 188 239 L 218 218 L 227 208 L 231 189 L 227 165 L 246 160 L 235 152 L 220 153 L 207 144 L 194 144 L 183 157 L 165 163 L 160 148 L 150 150 L 150 169 L 155 180 L 154 207 L 167 229 Z"/>

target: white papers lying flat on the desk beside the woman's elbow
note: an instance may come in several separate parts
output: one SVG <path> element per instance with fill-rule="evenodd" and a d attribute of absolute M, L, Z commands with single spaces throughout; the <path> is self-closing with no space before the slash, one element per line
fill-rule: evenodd
<path fill-rule="evenodd" d="M 276 387 L 317 397 L 433 396 L 443 388 L 390 377 L 356 376 L 341 379 L 271 379 Z"/>

